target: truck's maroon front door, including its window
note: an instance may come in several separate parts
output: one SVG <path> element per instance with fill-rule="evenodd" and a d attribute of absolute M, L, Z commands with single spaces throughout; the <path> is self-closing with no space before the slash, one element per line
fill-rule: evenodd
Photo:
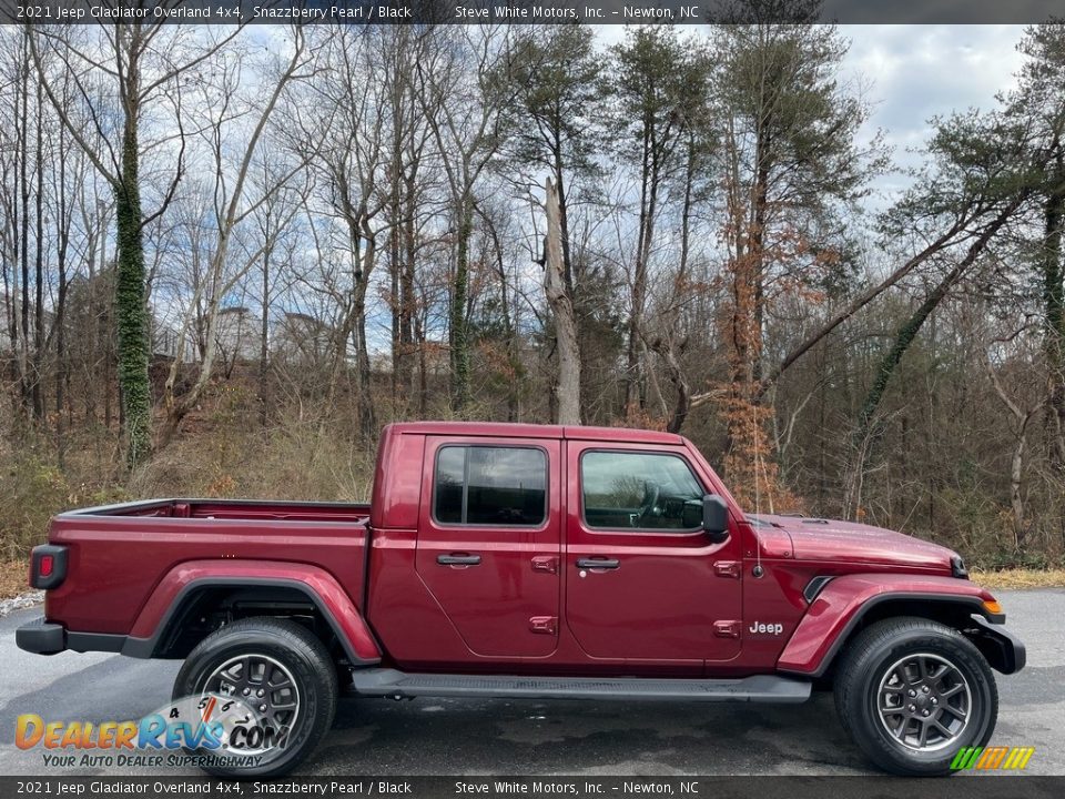
<path fill-rule="evenodd" d="M 712 488 L 686 452 L 571 441 L 567 469 L 566 621 L 585 653 L 693 669 L 736 657 L 740 545 L 700 528 Z"/>

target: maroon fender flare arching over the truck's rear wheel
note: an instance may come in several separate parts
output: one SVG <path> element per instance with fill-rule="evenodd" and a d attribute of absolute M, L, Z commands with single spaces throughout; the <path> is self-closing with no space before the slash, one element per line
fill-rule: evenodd
<path fill-rule="evenodd" d="M 363 615 L 325 569 L 275 560 L 189 560 L 172 568 L 155 586 L 122 646 L 131 657 L 152 657 L 191 593 L 204 587 L 277 586 L 293 588 L 322 613 L 353 664 L 381 663 L 381 649 Z"/>

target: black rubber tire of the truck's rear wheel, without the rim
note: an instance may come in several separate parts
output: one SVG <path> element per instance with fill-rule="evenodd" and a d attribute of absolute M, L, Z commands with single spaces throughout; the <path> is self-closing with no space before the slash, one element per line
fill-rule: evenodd
<path fill-rule="evenodd" d="M 291 677 L 295 715 L 291 717 L 285 746 L 267 750 L 257 766 L 211 758 L 211 762 L 200 768 L 219 777 L 280 777 L 311 755 L 332 727 L 336 712 L 336 669 L 322 641 L 295 621 L 266 616 L 245 618 L 215 630 L 196 645 L 178 672 L 173 699 L 202 696 L 207 682 L 217 679 L 219 669 L 240 656 L 258 657 L 260 664 L 272 661 L 281 667 L 274 674 L 282 679 Z M 217 752 L 201 749 L 193 754 Z"/>

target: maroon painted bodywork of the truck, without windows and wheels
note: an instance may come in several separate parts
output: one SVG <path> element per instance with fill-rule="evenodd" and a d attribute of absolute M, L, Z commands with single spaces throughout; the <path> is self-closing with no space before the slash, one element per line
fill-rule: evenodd
<path fill-rule="evenodd" d="M 537 447 L 536 527 L 456 526 L 432 513 L 445 444 Z M 729 536 L 589 527 L 589 449 L 670 453 L 729 508 Z M 368 505 L 164 499 L 62 514 L 68 576 L 47 593 L 69 630 L 151 637 L 206 578 L 307 586 L 361 658 L 410 670 L 529 675 L 812 674 L 885 593 L 991 595 L 951 577 L 953 553 L 865 525 L 744 515 L 686 438 L 651 431 L 476 423 L 384 428 Z M 438 563 L 477 555 L 476 565 Z M 610 558 L 616 569 L 580 568 Z M 815 576 L 834 579 L 808 606 Z"/>

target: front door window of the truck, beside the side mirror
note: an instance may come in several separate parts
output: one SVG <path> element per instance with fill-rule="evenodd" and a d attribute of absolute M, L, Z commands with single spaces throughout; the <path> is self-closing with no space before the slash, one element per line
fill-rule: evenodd
<path fill-rule="evenodd" d="M 692 529 L 702 519 L 702 486 L 673 455 L 589 452 L 580 479 L 589 527 Z"/>

